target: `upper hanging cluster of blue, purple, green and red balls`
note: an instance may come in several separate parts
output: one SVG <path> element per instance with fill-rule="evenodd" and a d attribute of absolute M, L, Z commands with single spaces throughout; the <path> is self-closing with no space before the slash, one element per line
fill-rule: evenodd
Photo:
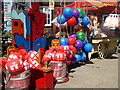
<path fill-rule="evenodd" d="M 78 18 L 82 19 L 83 25 L 89 24 L 89 19 L 85 16 L 85 11 L 82 8 L 72 9 L 70 7 L 66 7 L 63 10 L 63 14 L 57 16 L 57 22 L 59 24 L 67 22 L 68 26 L 74 26 L 79 23 Z"/>

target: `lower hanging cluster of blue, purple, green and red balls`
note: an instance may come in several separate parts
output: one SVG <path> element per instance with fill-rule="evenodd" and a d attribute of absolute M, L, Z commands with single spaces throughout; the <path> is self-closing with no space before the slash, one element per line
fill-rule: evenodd
<path fill-rule="evenodd" d="M 77 50 L 80 50 L 80 53 L 74 53 L 74 57 L 72 60 L 76 60 L 76 62 L 84 61 L 86 58 L 85 52 L 90 52 L 92 50 L 92 44 L 87 43 L 87 38 L 85 37 L 85 33 L 82 31 L 78 31 L 76 34 L 71 34 L 68 38 L 61 37 L 60 45 L 72 45 Z M 85 52 L 83 52 L 85 51 Z"/>

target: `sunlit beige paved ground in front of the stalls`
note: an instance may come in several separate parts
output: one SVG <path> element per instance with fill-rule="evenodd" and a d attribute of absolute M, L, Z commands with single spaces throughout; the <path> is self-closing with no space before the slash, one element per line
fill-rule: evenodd
<path fill-rule="evenodd" d="M 110 59 L 92 58 L 86 64 L 71 70 L 70 80 L 55 88 L 118 88 L 118 55 Z"/>

